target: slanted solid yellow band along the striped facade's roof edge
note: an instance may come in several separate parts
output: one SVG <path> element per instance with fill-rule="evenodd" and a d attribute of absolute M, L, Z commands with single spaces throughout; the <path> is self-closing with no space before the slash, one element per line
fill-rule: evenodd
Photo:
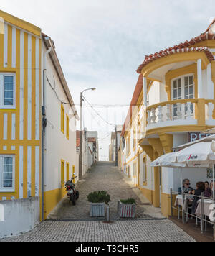
<path fill-rule="evenodd" d="M 36 27 L 33 24 L 30 24 L 29 22 L 25 22 L 22 19 L 16 18 L 16 17 L 12 16 L 11 14 L 8 14 L 8 13 L 0 10 L 0 17 L 2 17 L 6 22 L 14 24 L 16 27 L 25 29 L 28 32 L 33 33 L 34 35 L 37 35 L 39 37 L 41 35 L 41 29 L 39 27 Z"/>

